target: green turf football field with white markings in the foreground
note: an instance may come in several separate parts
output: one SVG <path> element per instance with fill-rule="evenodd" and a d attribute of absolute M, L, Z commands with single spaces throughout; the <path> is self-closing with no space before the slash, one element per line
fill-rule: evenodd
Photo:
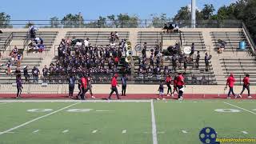
<path fill-rule="evenodd" d="M 199 144 L 204 127 L 256 138 L 253 100 L 6 100 L 0 114 L 1 144 Z"/>

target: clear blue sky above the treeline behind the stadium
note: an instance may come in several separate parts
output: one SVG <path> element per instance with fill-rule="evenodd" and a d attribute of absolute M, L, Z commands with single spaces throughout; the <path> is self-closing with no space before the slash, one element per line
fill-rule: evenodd
<path fill-rule="evenodd" d="M 212 3 L 215 9 L 229 5 L 235 0 L 197 0 L 202 9 L 204 4 Z M 190 0 L 5 0 L 0 4 L 0 12 L 10 14 L 11 19 L 50 19 L 66 14 L 82 12 L 84 19 L 96 19 L 110 14 L 137 14 L 139 18 L 150 18 L 150 14 L 166 13 L 174 16 L 181 6 L 187 6 Z"/>

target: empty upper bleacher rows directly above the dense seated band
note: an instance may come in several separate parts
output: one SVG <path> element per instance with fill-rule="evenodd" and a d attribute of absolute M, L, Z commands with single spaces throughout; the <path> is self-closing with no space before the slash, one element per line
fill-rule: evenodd
<path fill-rule="evenodd" d="M 90 39 L 91 45 L 109 45 L 111 31 L 68 31 L 66 38 Z M 126 38 L 129 39 L 128 31 L 118 31 L 119 40 Z"/>

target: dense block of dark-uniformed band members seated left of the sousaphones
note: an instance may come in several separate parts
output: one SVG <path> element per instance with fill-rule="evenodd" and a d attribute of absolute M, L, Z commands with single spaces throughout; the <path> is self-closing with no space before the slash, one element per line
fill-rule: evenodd
<path fill-rule="evenodd" d="M 92 81 L 108 82 L 112 74 L 131 73 L 129 63 L 119 66 L 125 55 L 126 39 L 118 45 L 111 42 L 109 46 L 91 46 L 90 38 L 84 41 L 63 38 L 58 46 L 58 58 L 50 64 L 48 73 L 58 79 L 66 79 L 67 74 L 92 74 Z"/>

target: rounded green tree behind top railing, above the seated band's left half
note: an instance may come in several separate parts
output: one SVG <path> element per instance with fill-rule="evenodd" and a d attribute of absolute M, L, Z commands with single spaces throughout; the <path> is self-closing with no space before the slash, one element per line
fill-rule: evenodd
<path fill-rule="evenodd" d="M 63 27 L 69 27 L 69 28 L 78 28 L 78 27 L 83 27 L 84 22 L 83 22 L 82 15 L 79 14 L 66 14 L 64 18 L 62 18 L 62 25 Z"/>

